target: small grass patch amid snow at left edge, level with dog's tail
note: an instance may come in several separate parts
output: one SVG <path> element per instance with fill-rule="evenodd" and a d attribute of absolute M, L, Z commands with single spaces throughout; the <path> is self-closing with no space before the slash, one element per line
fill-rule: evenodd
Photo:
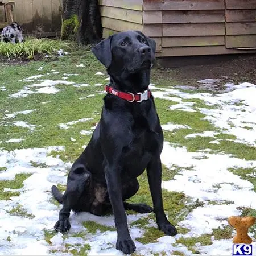
<path fill-rule="evenodd" d="M 0 200 L 10 200 L 12 196 L 19 196 L 20 192 L 7 191 L 4 192 L 5 188 L 19 189 L 23 187 L 23 181 L 30 177 L 31 174 L 16 174 L 13 180 L 2 180 L 0 181 Z"/>

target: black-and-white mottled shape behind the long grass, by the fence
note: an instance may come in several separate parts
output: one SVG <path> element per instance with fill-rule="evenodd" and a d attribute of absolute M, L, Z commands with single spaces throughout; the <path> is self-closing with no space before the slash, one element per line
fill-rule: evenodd
<path fill-rule="evenodd" d="M 17 22 L 11 23 L 9 26 L 3 28 L 0 36 L 1 42 L 11 42 L 15 44 L 16 42 L 23 42 L 22 29 Z"/>

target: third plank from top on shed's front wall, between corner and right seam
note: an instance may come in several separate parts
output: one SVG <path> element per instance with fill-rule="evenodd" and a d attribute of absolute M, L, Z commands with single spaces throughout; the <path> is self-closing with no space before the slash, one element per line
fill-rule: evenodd
<path fill-rule="evenodd" d="M 225 23 L 163 24 L 163 36 L 225 35 Z"/>

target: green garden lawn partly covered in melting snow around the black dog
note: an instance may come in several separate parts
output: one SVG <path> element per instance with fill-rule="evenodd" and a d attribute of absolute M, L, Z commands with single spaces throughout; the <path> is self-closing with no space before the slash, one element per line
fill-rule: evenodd
<path fill-rule="evenodd" d="M 69 233 L 53 230 L 61 205 L 51 186 L 65 191 L 100 119 L 105 68 L 77 49 L 55 61 L 0 63 L 0 72 L 1 255 L 120 255 L 112 214 L 72 213 Z M 198 84 L 214 86 L 209 78 Z M 164 209 L 179 234 L 164 236 L 154 214 L 127 211 L 133 255 L 230 255 L 227 218 L 256 217 L 256 86 L 209 93 L 170 80 L 154 69 L 150 88 L 164 130 Z M 152 205 L 145 174 L 139 183 L 129 201 Z M 249 231 L 255 246 L 256 226 Z"/>

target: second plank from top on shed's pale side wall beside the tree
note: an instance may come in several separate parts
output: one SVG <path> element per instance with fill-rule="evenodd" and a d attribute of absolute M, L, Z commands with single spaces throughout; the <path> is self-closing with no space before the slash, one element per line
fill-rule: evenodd
<path fill-rule="evenodd" d="M 101 16 L 142 24 L 142 11 L 100 6 Z"/>

